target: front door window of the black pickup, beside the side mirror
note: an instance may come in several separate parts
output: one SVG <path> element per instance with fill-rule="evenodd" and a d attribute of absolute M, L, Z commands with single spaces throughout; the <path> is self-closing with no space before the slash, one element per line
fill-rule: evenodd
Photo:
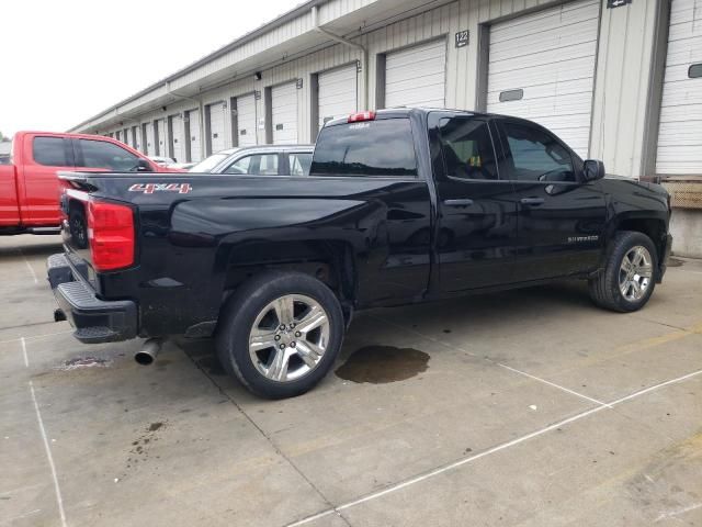
<path fill-rule="evenodd" d="M 552 135 L 524 124 L 502 123 L 511 153 L 511 179 L 576 181 L 573 158 Z"/>

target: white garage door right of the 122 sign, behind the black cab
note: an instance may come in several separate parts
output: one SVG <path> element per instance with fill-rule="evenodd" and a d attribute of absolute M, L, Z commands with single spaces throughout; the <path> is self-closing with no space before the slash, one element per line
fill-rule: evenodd
<path fill-rule="evenodd" d="M 587 157 L 599 4 L 569 2 L 492 25 L 488 112 L 535 121 Z"/>

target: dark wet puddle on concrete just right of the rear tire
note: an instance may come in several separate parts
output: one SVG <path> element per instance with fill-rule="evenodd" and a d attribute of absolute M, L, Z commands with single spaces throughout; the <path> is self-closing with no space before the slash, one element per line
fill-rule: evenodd
<path fill-rule="evenodd" d="M 412 348 L 366 346 L 337 368 L 337 377 L 352 382 L 383 384 L 405 381 L 427 371 L 429 355 Z"/>

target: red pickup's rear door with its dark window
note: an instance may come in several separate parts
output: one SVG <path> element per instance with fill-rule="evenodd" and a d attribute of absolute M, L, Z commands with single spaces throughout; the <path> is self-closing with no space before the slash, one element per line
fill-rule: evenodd
<path fill-rule="evenodd" d="M 20 206 L 26 225 L 59 225 L 59 170 L 73 170 L 70 139 L 25 135 L 20 173 Z"/>

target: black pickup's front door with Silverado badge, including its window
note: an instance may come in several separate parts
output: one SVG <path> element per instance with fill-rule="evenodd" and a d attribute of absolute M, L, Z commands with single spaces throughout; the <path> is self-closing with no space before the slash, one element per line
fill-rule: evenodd
<path fill-rule="evenodd" d="M 584 182 L 582 161 L 537 124 L 499 119 L 505 172 L 519 208 L 516 278 L 547 279 L 595 269 L 603 249 L 604 194 Z"/>

